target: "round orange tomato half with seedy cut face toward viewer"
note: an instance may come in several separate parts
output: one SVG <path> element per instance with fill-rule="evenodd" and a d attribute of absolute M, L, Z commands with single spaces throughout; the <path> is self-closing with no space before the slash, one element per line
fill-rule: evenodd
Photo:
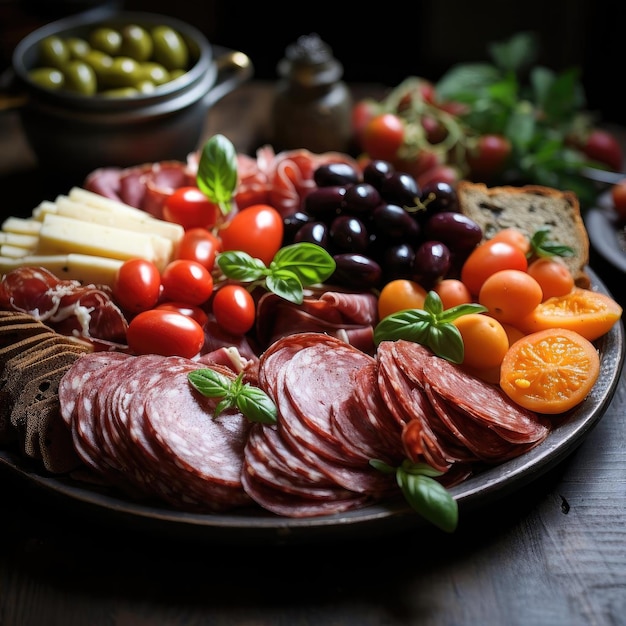
<path fill-rule="evenodd" d="M 600 357 L 582 335 L 549 328 L 526 335 L 507 351 L 500 387 L 520 406 L 538 413 L 563 413 L 580 404 L 600 375 Z"/>

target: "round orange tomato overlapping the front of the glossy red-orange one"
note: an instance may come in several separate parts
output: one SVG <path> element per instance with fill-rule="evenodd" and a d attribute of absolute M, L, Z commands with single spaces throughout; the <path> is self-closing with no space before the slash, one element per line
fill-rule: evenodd
<path fill-rule="evenodd" d="M 478 302 L 498 321 L 513 324 L 533 311 L 543 300 L 539 283 L 521 270 L 500 270 L 485 279 Z"/>

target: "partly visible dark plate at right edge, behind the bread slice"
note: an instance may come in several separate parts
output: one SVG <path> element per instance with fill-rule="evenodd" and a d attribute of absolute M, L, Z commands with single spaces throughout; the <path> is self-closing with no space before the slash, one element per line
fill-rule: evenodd
<path fill-rule="evenodd" d="M 626 272 L 626 230 L 613 210 L 610 192 L 602 194 L 597 206 L 585 213 L 585 226 L 594 250 Z"/>

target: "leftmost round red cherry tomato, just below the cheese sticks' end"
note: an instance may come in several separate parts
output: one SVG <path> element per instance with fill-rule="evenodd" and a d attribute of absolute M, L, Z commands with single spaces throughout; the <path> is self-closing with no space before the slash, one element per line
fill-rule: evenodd
<path fill-rule="evenodd" d="M 147 311 L 156 305 L 161 293 L 157 266 L 146 259 L 128 259 L 117 272 L 113 298 L 128 313 Z"/>

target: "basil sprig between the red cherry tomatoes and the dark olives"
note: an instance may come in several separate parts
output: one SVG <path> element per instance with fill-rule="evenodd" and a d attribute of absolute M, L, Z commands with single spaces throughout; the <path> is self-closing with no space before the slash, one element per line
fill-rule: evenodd
<path fill-rule="evenodd" d="M 239 250 L 219 253 L 216 263 L 227 278 L 250 282 L 251 287 L 265 286 L 294 304 L 302 304 L 305 286 L 323 283 L 336 267 L 335 260 L 324 248 L 308 242 L 281 248 L 269 267 Z"/>

